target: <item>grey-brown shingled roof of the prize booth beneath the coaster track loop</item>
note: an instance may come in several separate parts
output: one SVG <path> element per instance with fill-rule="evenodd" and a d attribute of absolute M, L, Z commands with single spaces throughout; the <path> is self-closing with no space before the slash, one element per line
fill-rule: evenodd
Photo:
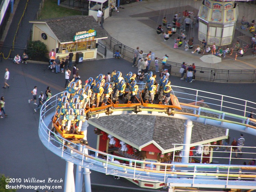
<path fill-rule="evenodd" d="M 205 105 L 204 105 L 205 107 Z M 193 113 L 190 109 L 183 112 Z M 201 115 L 216 116 L 201 113 Z M 152 140 L 163 150 L 173 148 L 173 143 L 182 144 L 184 139 L 184 123 L 182 119 L 168 118 L 153 115 L 113 115 L 89 119 L 104 128 L 106 133 L 113 134 L 118 139 L 125 139 L 132 146 L 142 146 Z M 207 141 L 226 135 L 226 129 L 213 125 L 193 122 L 191 143 Z M 97 126 L 96 126 L 97 127 Z"/>

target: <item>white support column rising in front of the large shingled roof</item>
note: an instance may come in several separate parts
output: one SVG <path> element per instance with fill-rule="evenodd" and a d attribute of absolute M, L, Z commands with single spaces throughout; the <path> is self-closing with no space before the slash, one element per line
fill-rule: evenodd
<path fill-rule="evenodd" d="M 192 135 L 192 127 L 193 122 L 190 119 L 187 119 L 184 124 L 185 130 L 184 130 L 184 142 L 183 144 L 186 144 L 183 146 L 182 151 L 182 163 L 188 163 L 189 162 L 189 151 L 190 151 L 190 142 L 191 142 L 191 135 Z"/>

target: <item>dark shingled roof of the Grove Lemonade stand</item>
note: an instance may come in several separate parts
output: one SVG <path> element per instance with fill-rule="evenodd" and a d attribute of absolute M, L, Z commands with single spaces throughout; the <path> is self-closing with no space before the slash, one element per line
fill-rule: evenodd
<path fill-rule="evenodd" d="M 91 15 L 74 15 L 68 17 L 34 20 L 30 22 L 45 22 L 61 43 L 71 42 L 73 41 L 76 32 L 88 31 L 89 29 L 96 30 L 96 38 L 107 37 L 105 31 L 99 26 L 95 18 Z"/>

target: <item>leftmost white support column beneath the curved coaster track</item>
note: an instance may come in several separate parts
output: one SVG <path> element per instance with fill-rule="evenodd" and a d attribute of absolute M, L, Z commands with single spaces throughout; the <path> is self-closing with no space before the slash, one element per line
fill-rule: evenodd
<path fill-rule="evenodd" d="M 73 169 L 74 169 L 74 163 L 67 161 L 66 162 L 64 192 L 75 192 Z"/>

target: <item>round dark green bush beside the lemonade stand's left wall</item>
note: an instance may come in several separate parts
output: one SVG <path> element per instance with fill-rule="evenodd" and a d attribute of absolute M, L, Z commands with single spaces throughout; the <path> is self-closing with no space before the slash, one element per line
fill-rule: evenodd
<path fill-rule="evenodd" d="M 27 54 L 30 60 L 47 61 L 45 55 L 48 50 L 41 41 L 30 41 L 27 47 Z"/>

